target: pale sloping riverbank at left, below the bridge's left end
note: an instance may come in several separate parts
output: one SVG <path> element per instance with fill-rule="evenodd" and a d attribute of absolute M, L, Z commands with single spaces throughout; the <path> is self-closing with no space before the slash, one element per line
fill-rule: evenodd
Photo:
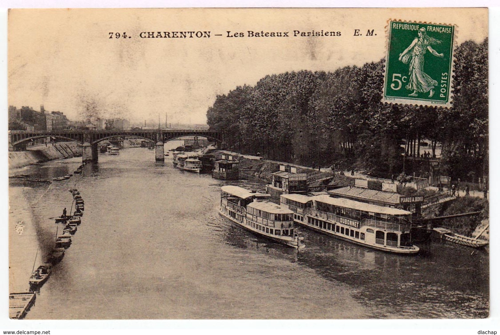
<path fill-rule="evenodd" d="M 26 151 L 9 151 L 8 168 L 20 168 L 45 161 L 70 158 L 81 155 L 81 146 L 77 142 L 59 142 L 47 145 L 37 145 Z"/>

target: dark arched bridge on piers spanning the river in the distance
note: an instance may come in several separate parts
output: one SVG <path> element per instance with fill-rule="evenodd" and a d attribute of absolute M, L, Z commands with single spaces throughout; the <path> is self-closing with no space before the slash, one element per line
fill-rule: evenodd
<path fill-rule="evenodd" d="M 113 137 L 130 136 L 149 140 L 156 145 L 156 160 L 163 161 L 163 144 L 183 136 L 203 136 L 213 140 L 220 147 L 223 138 L 219 131 L 206 129 L 140 129 L 140 130 L 59 130 L 59 131 L 24 131 L 10 130 L 9 139 L 12 147 L 36 138 L 52 137 L 76 141 L 82 147 L 82 160 L 97 161 L 97 143 Z"/>

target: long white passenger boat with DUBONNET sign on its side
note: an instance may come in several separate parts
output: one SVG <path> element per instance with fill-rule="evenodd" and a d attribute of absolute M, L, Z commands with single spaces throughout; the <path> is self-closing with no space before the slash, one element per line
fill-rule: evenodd
<path fill-rule="evenodd" d="M 293 211 L 293 219 L 314 231 L 394 253 L 414 254 L 411 212 L 326 194 L 281 194 L 280 205 Z"/>

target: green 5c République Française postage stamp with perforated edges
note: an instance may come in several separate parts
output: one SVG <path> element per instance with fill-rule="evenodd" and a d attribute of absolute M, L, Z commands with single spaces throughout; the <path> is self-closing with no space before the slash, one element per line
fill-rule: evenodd
<path fill-rule="evenodd" d="M 389 20 L 382 102 L 451 107 L 455 26 Z"/>

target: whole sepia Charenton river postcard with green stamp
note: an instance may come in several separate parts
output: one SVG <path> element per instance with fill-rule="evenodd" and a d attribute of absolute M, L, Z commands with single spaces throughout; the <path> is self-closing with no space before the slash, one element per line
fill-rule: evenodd
<path fill-rule="evenodd" d="M 9 10 L 8 317 L 488 318 L 488 73 L 487 8 Z"/>

